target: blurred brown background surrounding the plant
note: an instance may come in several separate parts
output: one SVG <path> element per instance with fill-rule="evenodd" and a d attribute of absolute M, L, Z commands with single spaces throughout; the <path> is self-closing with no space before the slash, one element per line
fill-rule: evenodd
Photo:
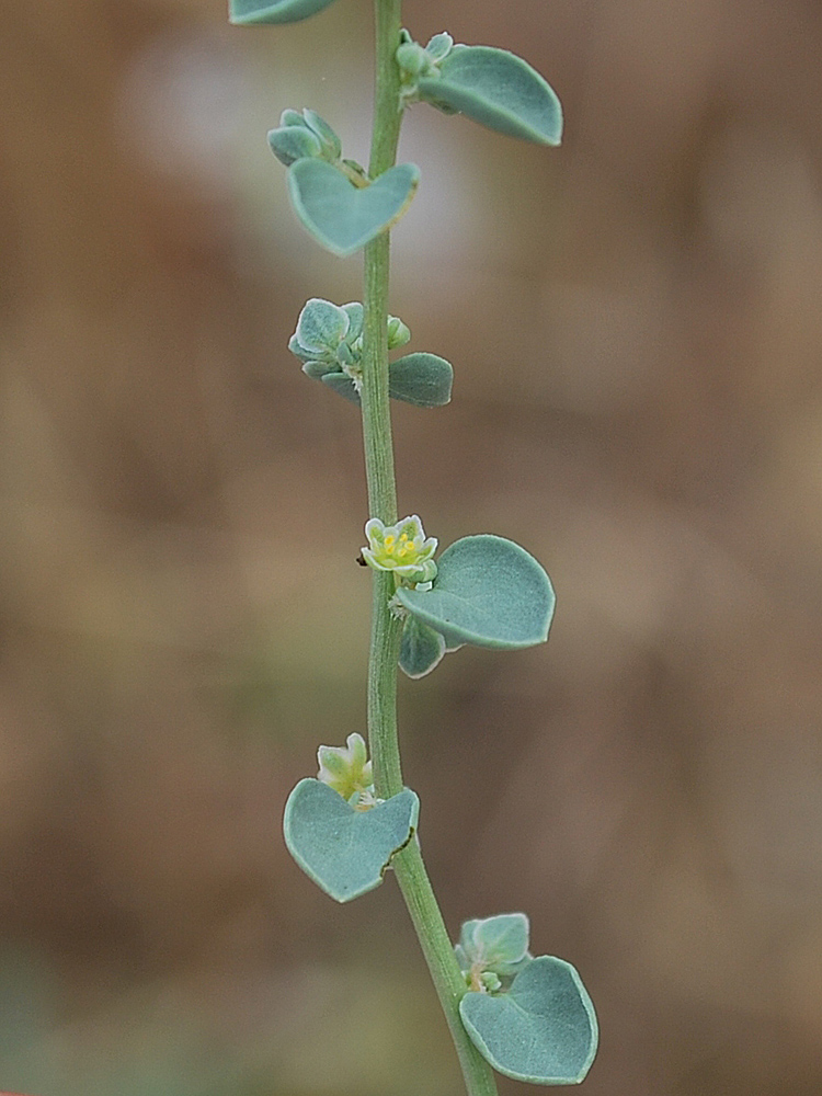
<path fill-rule="evenodd" d="M 414 0 L 546 73 L 546 150 L 425 106 L 391 307 L 455 401 L 396 409 L 401 512 L 493 532 L 547 648 L 401 686 L 446 920 L 527 910 L 597 1005 L 589 1096 L 822 1091 L 822 9 Z M 452 1096 L 391 880 L 279 834 L 363 729 L 353 408 L 285 349 L 358 259 L 265 132 L 367 156 L 370 5 L 0 8 L 0 1087 Z M 501 1093 L 525 1089 L 501 1082 Z"/>

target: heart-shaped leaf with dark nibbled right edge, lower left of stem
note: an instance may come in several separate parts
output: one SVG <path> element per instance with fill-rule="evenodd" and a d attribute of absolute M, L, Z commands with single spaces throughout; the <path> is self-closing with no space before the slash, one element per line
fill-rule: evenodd
<path fill-rule="evenodd" d="M 383 882 L 398 849 L 416 829 L 420 800 L 409 788 L 368 810 L 354 810 L 327 784 L 306 777 L 285 804 L 288 852 L 306 875 L 338 902 Z"/>

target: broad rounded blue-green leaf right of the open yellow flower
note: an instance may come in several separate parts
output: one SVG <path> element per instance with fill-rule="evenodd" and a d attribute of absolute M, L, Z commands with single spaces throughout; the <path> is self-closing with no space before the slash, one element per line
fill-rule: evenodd
<path fill-rule="evenodd" d="M 482 534 L 443 552 L 431 590 L 400 586 L 415 617 L 457 643 L 514 649 L 548 638 L 556 598 L 541 566 L 520 545 Z"/>

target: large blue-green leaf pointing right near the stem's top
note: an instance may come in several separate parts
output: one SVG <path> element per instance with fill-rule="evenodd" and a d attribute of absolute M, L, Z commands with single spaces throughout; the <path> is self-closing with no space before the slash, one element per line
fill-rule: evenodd
<path fill-rule="evenodd" d="M 439 78 L 422 77 L 421 99 L 460 111 L 480 125 L 538 145 L 559 145 L 562 105 L 550 84 L 527 61 L 493 46 L 454 46 Z"/>

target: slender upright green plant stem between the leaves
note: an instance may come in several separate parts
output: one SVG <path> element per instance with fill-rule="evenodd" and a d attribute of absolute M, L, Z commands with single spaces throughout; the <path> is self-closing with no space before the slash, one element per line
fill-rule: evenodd
<path fill-rule="evenodd" d="M 399 45 L 400 5 L 401 0 L 375 0 L 377 56 L 372 179 L 391 168 L 397 159 L 402 115 L 399 69 L 393 58 Z M 389 260 L 389 233 L 384 232 L 365 249 L 361 399 L 369 516 L 392 525 L 398 515 L 388 402 Z M 397 661 L 402 623 L 389 608 L 393 591 L 391 573 L 375 571 L 368 658 L 368 741 L 375 790 L 383 799 L 402 790 L 397 737 Z M 491 1066 L 468 1038 L 459 1017 L 459 1002 L 467 987 L 425 871 L 419 842 L 412 840 L 393 857 L 392 865 L 454 1039 L 466 1092 L 468 1096 L 496 1096 Z"/>

